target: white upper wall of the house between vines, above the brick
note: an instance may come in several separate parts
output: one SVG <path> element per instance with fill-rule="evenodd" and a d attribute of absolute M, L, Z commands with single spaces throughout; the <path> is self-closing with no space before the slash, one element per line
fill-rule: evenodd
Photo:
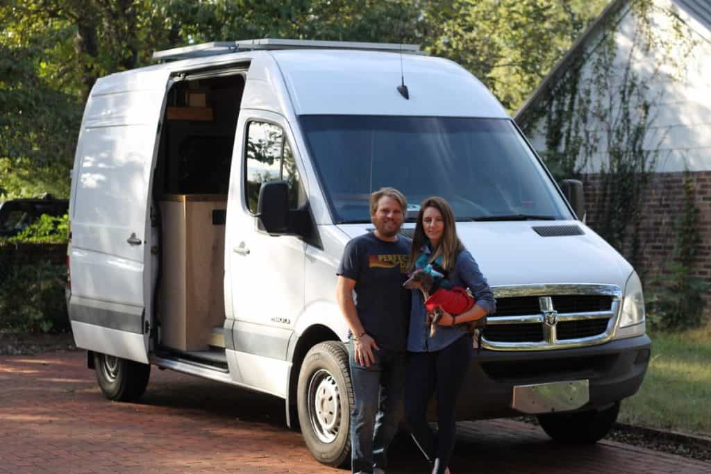
<path fill-rule="evenodd" d="M 629 4 L 629 2 L 628 2 Z M 690 171 L 711 170 L 711 41 L 708 29 L 693 17 L 685 14 L 683 5 L 673 2 L 657 1 L 659 8 L 653 9 L 651 19 L 653 29 L 665 45 L 675 45 L 671 58 L 678 60 L 674 65 L 662 62 L 664 53 L 652 50 L 644 53 L 635 48 L 631 68 L 638 73 L 648 91 L 646 98 L 652 103 L 651 114 L 654 120 L 648 129 L 645 149 L 658 150 L 659 161 L 656 171 L 675 172 L 688 168 Z M 670 13 L 674 11 L 683 21 L 683 40 L 675 38 Z M 629 51 L 638 31 L 638 19 L 629 9 L 623 7 L 614 36 L 618 45 L 616 58 L 617 80 L 621 80 L 627 63 Z M 597 35 L 587 38 L 585 50 L 588 59 L 582 68 L 581 84 L 591 80 L 595 73 L 593 58 L 603 35 L 610 31 L 600 30 Z M 689 42 L 693 42 L 690 46 Z M 636 41 L 636 43 L 640 43 Z M 689 51 L 690 50 L 690 51 Z M 684 56 L 682 57 L 682 55 Z M 611 92 L 615 92 L 614 85 Z M 597 97 L 612 104 L 619 104 L 616 96 Z M 613 107 L 611 114 L 618 112 Z M 545 150 L 545 118 L 530 127 L 529 139 L 538 151 Z M 586 163 L 585 173 L 597 173 L 601 162 L 607 155 L 604 124 L 592 118 L 587 126 L 591 136 L 597 137 L 598 153 Z"/>

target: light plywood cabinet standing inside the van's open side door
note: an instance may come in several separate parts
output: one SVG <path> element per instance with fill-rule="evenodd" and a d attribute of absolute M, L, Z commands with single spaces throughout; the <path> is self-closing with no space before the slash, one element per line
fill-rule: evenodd
<path fill-rule="evenodd" d="M 212 328 L 225 321 L 225 225 L 219 216 L 227 196 L 165 195 L 160 206 L 161 344 L 205 350 Z"/>

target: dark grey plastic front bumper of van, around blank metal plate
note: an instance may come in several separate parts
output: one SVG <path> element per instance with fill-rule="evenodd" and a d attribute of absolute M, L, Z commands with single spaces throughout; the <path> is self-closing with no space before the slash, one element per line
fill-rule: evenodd
<path fill-rule="evenodd" d="M 513 387 L 548 382 L 589 381 L 589 402 L 579 409 L 602 409 L 634 395 L 649 364 L 647 335 L 588 348 L 475 353 L 456 404 L 460 420 L 520 416 Z"/>

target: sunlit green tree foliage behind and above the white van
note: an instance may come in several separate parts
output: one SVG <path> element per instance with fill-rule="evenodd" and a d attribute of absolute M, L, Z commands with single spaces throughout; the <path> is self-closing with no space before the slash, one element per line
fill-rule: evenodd
<path fill-rule="evenodd" d="M 97 77 L 205 41 L 420 43 L 481 78 L 510 111 L 607 0 L 10 0 L 0 4 L 0 196 L 69 193 Z"/>

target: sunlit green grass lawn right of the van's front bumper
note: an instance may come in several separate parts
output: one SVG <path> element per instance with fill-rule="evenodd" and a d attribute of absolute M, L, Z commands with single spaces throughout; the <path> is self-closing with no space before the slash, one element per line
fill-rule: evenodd
<path fill-rule="evenodd" d="M 641 389 L 618 421 L 711 437 L 711 323 L 683 333 L 649 331 L 652 355 Z"/>

